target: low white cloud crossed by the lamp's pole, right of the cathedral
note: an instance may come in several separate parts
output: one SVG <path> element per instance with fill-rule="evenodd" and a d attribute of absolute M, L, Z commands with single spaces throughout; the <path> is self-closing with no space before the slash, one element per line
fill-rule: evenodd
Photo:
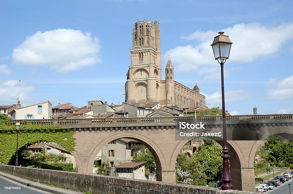
<path fill-rule="evenodd" d="M 214 106 L 222 106 L 222 92 L 214 92 L 212 94 L 205 94 L 205 99 L 208 104 L 211 104 L 211 107 Z M 235 102 L 247 100 L 250 97 L 249 91 L 244 90 L 231 90 L 229 92 L 225 92 L 225 102 Z"/>

